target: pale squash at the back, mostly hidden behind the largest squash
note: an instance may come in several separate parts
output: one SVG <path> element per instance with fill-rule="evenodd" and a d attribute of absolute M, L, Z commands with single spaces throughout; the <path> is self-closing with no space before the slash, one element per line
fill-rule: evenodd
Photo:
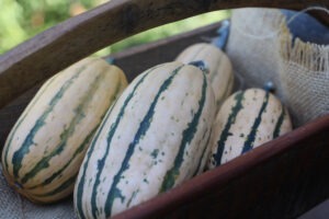
<path fill-rule="evenodd" d="M 198 43 L 185 48 L 175 60 L 183 64 L 203 60 L 206 64 L 218 111 L 225 99 L 231 94 L 234 87 L 231 62 L 225 53 L 215 45 Z"/>

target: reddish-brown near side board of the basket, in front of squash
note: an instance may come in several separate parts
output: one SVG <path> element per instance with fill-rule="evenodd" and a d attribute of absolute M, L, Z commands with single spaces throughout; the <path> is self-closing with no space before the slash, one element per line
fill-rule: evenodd
<path fill-rule="evenodd" d="M 329 198 L 329 115 L 113 219 L 296 218 Z"/>

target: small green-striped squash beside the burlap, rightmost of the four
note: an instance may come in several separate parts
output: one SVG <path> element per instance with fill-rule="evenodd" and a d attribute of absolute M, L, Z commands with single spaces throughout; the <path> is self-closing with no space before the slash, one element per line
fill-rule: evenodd
<path fill-rule="evenodd" d="M 213 169 L 287 131 L 286 108 L 270 92 L 248 89 L 230 95 L 213 126 L 208 168 Z"/>

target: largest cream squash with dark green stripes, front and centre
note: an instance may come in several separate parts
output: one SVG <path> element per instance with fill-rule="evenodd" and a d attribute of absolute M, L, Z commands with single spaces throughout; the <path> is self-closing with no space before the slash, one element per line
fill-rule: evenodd
<path fill-rule="evenodd" d="M 139 74 L 105 115 L 75 187 L 80 218 L 109 218 L 203 171 L 215 99 L 181 62 Z"/>

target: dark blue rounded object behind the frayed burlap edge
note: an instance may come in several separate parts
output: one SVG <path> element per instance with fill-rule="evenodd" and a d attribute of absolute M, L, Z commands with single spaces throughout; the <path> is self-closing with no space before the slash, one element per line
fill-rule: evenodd
<path fill-rule="evenodd" d="M 281 11 L 286 16 L 286 21 L 288 22 L 287 26 L 294 37 L 293 41 L 298 37 L 304 42 L 329 45 L 328 26 L 325 26 L 307 13 L 298 13 L 291 10 Z"/>

